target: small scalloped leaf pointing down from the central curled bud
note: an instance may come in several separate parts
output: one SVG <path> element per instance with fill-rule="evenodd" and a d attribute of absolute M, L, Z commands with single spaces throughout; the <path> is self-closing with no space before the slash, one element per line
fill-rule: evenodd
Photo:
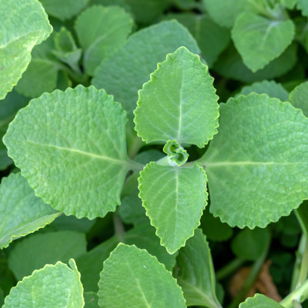
<path fill-rule="evenodd" d="M 208 197 L 205 172 L 198 164 L 183 168 L 151 162 L 140 172 L 138 181 L 139 197 L 161 239 L 160 245 L 172 254 L 200 225 Z"/>

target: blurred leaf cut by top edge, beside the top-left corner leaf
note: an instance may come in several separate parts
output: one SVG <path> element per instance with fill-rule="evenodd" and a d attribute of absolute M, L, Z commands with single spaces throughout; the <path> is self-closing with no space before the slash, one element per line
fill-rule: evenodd
<path fill-rule="evenodd" d="M 40 0 L 48 15 L 62 21 L 78 14 L 89 0 Z"/>

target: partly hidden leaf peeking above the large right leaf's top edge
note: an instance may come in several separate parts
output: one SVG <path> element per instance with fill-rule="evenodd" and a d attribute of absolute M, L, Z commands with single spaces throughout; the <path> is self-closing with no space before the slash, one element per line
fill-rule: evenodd
<path fill-rule="evenodd" d="M 288 91 L 286 91 L 281 83 L 277 83 L 275 80 L 263 80 L 261 82 L 253 83 L 250 86 L 245 86 L 235 97 L 238 97 L 241 94 L 248 95 L 251 92 L 256 92 L 258 94 L 265 93 L 269 97 L 280 99 L 282 102 L 288 100 L 289 97 Z"/>

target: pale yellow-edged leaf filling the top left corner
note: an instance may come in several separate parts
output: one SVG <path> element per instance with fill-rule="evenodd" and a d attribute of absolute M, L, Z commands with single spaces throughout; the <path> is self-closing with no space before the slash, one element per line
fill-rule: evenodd
<path fill-rule="evenodd" d="M 5 12 L 0 21 L 0 99 L 4 99 L 30 63 L 32 48 L 48 38 L 52 27 L 37 0 L 2 0 L 0 12 Z"/>

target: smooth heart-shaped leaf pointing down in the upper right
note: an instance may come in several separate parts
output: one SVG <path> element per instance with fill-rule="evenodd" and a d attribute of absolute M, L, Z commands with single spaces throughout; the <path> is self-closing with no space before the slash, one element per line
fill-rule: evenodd
<path fill-rule="evenodd" d="M 295 26 L 291 20 L 270 20 L 253 13 L 242 13 L 231 31 L 244 64 L 253 72 L 264 68 L 291 44 Z"/>

